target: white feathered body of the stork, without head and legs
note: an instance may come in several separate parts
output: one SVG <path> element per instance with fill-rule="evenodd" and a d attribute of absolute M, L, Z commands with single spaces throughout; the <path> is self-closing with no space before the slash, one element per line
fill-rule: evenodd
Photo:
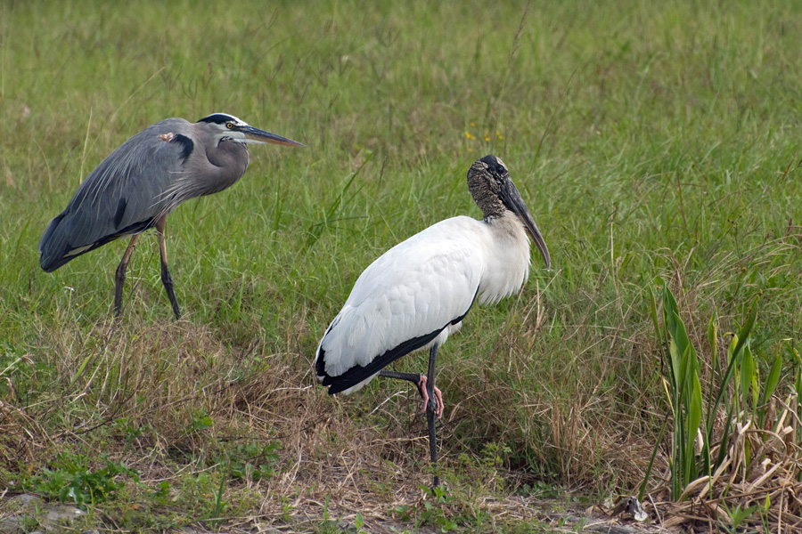
<path fill-rule="evenodd" d="M 318 376 L 337 383 L 383 357 L 375 372 L 337 388 L 354 392 L 390 361 L 443 344 L 477 296 L 495 303 L 518 292 L 528 273 L 529 239 L 515 214 L 490 222 L 459 216 L 436 223 L 389 249 L 356 280 L 318 346 L 315 362 L 323 358 L 324 370 Z M 404 351 L 413 340 L 416 346 Z"/>

